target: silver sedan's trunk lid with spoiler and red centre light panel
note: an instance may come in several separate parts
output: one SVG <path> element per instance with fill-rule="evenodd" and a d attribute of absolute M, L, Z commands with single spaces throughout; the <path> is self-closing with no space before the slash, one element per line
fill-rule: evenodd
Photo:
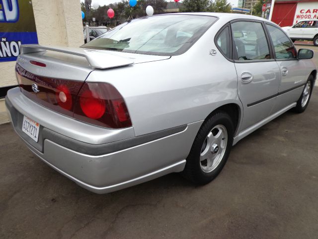
<path fill-rule="evenodd" d="M 24 95 L 53 111 L 73 117 L 79 91 L 90 72 L 127 67 L 135 61 L 142 63 L 167 58 L 84 48 L 21 45 L 15 71 Z"/>

